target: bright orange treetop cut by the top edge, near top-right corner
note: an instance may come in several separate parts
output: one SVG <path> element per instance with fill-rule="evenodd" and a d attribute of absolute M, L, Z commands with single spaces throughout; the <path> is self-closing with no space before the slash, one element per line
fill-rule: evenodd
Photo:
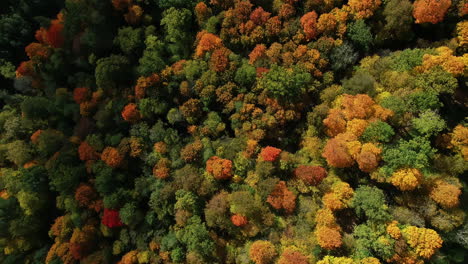
<path fill-rule="evenodd" d="M 416 0 L 413 3 L 413 16 L 416 24 L 441 22 L 451 4 L 451 0 Z"/>

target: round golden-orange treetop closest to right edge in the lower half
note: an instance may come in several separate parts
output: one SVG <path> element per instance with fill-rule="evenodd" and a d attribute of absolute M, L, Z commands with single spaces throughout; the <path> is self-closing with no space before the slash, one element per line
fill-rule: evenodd
<path fill-rule="evenodd" d="M 460 203 L 460 195 L 459 187 L 443 180 L 437 180 L 429 197 L 444 208 L 453 208 Z"/>

